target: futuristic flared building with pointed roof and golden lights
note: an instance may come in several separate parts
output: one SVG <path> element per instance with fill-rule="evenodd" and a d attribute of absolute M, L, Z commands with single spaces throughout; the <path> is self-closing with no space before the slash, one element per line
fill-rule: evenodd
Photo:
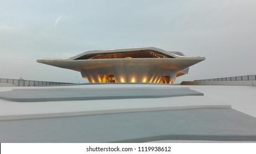
<path fill-rule="evenodd" d="M 90 83 L 174 84 L 177 76 L 187 74 L 191 65 L 203 60 L 205 57 L 185 56 L 155 47 L 129 47 L 37 62 L 79 71 Z"/>

